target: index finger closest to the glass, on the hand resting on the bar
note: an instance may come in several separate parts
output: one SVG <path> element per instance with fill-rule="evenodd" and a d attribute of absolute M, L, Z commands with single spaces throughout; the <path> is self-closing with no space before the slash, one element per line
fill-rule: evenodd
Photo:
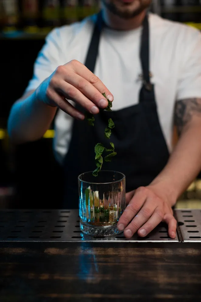
<path fill-rule="evenodd" d="M 121 215 L 119 222 L 117 224 L 117 228 L 120 231 L 123 231 L 126 226 L 129 224 L 131 219 L 135 217 L 135 215 L 139 212 L 141 207 L 143 206 L 145 200 L 147 198 L 147 189 L 144 187 L 140 187 L 136 190 L 132 200 L 124 210 Z"/>

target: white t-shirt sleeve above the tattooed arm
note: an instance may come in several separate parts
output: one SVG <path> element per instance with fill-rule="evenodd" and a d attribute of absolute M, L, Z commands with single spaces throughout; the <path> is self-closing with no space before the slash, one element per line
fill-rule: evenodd
<path fill-rule="evenodd" d="M 194 28 L 189 28 L 184 38 L 177 100 L 201 98 L 201 33 Z"/>

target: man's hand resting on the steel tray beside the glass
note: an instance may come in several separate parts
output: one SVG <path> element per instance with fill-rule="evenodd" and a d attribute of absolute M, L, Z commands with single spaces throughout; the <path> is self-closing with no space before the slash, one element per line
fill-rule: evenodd
<path fill-rule="evenodd" d="M 173 217 L 172 203 L 168 196 L 161 193 L 159 187 L 149 185 L 126 194 L 127 207 L 117 224 L 127 238 L 135 232 L 139 236 L 148 235 L 161 221 L 168 224 L 168 234 L 176 236 L 177 222 Z"/>

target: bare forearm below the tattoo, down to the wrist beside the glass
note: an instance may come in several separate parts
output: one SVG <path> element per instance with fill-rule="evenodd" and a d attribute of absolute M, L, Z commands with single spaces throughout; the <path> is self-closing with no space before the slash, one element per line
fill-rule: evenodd
<path fill-rule="evenodd" d="M 172 205 L 201 170 L 200 137 L 201 123 L 183 132 L 167 165 L 151 183 L 168 192 Z"/>

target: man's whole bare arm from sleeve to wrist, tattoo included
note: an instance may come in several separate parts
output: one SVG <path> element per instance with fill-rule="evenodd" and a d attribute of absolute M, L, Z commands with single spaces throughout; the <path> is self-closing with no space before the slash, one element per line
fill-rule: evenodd
<path fill-rule="evenodd" d="M 175 106 L 180 136 L 168 164 L 151 185 L 160 185 L 172 205 L 201 170 L 201 99 L 180 100 Z"/>

